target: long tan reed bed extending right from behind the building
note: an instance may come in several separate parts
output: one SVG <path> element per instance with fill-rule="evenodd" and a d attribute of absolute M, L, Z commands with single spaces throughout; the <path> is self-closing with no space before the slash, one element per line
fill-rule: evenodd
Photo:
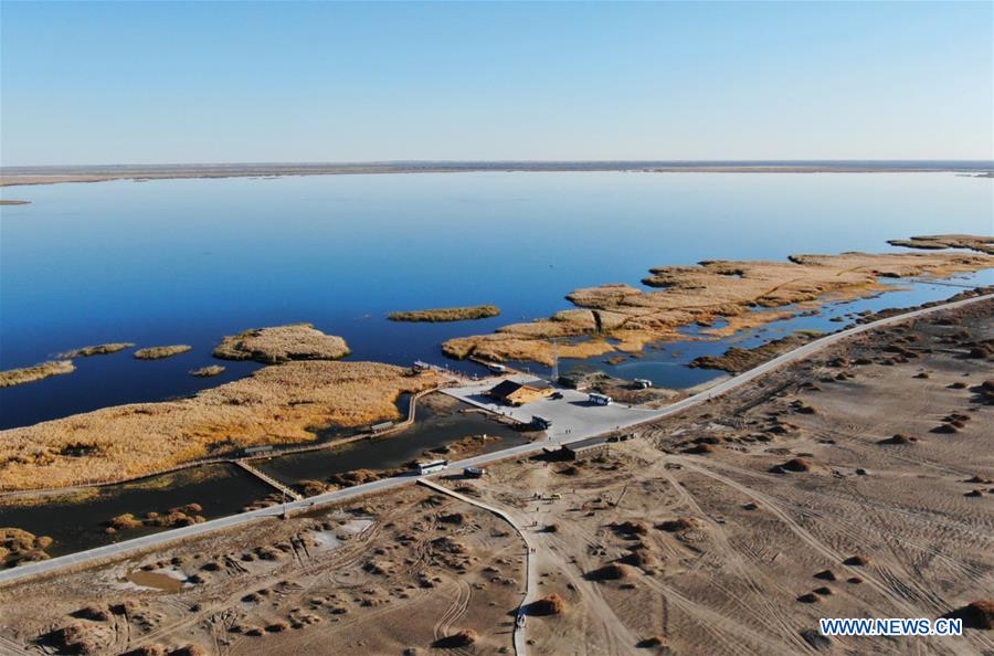
<path fill-rule="evenodd" d="M 630 285 L 577 289 L 567 296 L 577 309 L 505 326 L 491 335 L 451 339 L 442 348 L 445 355 L 458 359 L 544 364 L 552 362 L 553 338 L 567 340 L 558 345 L 561 358 L 636 352 L 653 341 L 687 339 L 678 329 L 694 324 L 725 320 L 727 326 L 710 331 L 712 337 L 723 337 L 829 300 L 878 294 L 889 288 L 879 284 L 880 277 L 948 276 L 991 266 L 994 258 L 990 255 L 960 253 L 791 255 L 787 262 L 712 261 L 665 266 L 651 269 L 652 275 L 643 279 L 651 287 L 663 288 L 660 292 L 643 292 Z M 754 311 L 757 307 L 796 304 L 803 305 L 791 311 Z M 575 338 L 584 339 L 569 341 Z M 616 341 L 612 343 L 609 338 Z"/>

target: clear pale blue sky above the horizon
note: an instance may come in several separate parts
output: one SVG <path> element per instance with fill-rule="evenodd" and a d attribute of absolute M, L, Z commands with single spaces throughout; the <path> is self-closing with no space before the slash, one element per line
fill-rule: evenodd
<path fill-rule="evenodd" d="M 994 159 L 994 3 L 0 3 L 0 162 Z"/>

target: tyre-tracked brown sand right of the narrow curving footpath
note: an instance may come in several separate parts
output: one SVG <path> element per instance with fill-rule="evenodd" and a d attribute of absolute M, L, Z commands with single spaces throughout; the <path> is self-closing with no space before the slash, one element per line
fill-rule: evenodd
<path fill-rule="evenodd" d="M 992 371 L 969 355 L 992 310 L 874 334 L 602 462 L 496 468 L 484 498 L 537 522 L 541 594 L 567 603 L 529 622 L 533 653 L 990 653 L 984 631 L 829 641 L 817 618 L 934 618 L 991 596 Z M 881 443 L 896 434 L 909 442 Z M 794 458 L 806 470 L 780 467 Z"/>

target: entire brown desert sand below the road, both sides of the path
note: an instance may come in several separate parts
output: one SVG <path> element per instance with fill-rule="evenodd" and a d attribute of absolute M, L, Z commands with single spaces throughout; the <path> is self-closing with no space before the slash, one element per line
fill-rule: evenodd
<path fill-rule="evenodd" d="M 563 600 L 530 610 L 529 654 L 991 653 L 980 628 L 825 638 L 817 620 L 992 596 L 992 314 L 860 336 L 595 459 L 440 483 L 510 514 L 536 548 L 529 600 Z M 511 653 L 524 552 L 497 517 L 412 487 L 4 589 L 0 636 L 29 653 L 68 626 L 93 654 Z M 140 568 L 188 583 L 124 581 Z M 461 631 L 477 641 L 446 647 Z"/>

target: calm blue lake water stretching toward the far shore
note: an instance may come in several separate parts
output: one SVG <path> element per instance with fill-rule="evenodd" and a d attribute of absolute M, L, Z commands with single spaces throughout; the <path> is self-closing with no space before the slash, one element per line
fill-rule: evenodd
<path fill-rule="evenodd" d="M 0 210 L 0 368 L 105 341 L 194 350 L 151 362 L 127 352 L 77 359 L 72 374 L 0 390 L 0 427 L 244 375 L 256 366 L 226 362 L 207 380 L 187 371 L 211 362 L 222 335 L 248 327 L 311 321 L 343 336 L 352 359 L 444 362 L 448 337 L 548 316 L 577 287 L 637 284 L 652 266 L 994 232 L 992 181 L 950 173 L 324 176 L 21 187 L 4 198 L 33 204 Z M 955 292 L 924 286 L 870 305 Z M 383 318 L 483 303 L 504 316 Z M 839 324 L 822 318 L 826 326 Z M 713 372 L 686 369 L 686 356 L 725 345 L 673 348 L 678 358 L 647 353 L 618 371 L 694 384 Z"/>

